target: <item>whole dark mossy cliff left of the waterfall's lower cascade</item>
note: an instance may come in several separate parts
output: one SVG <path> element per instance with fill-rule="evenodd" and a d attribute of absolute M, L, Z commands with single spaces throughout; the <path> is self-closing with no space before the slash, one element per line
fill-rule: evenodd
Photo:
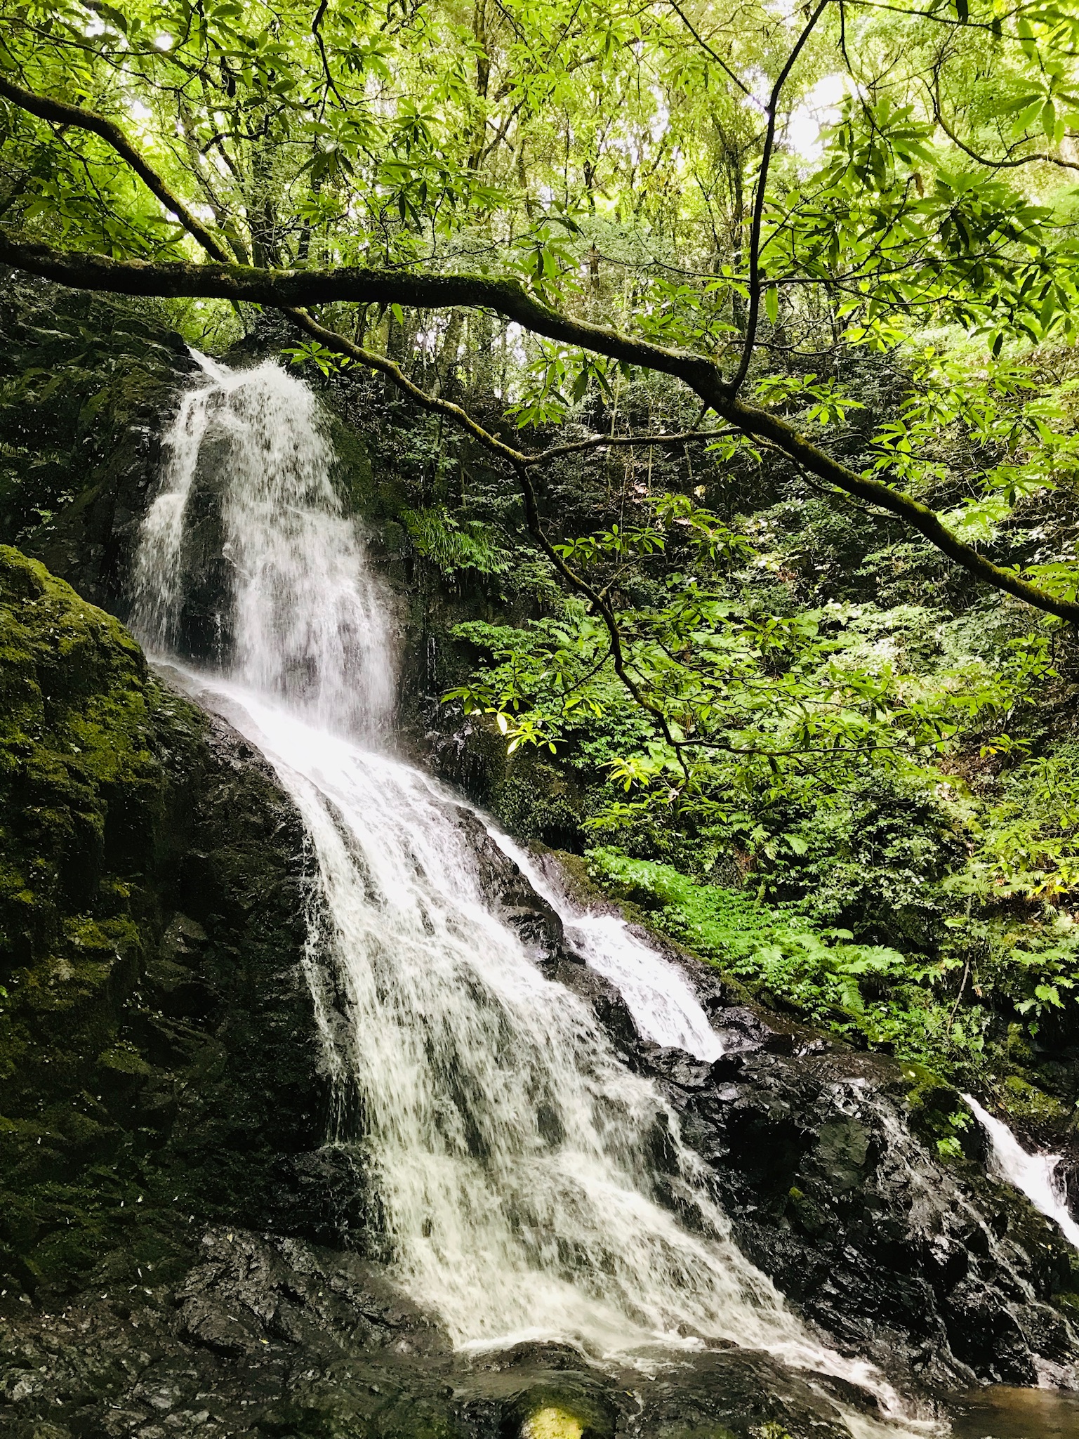
<path fill-rule="evenodd" d="M 304 911 L 262 761 L 0 547 L 0 1309 L 158 1272 L 191 1216 L 295 1227 L 322 1112 Z"/>

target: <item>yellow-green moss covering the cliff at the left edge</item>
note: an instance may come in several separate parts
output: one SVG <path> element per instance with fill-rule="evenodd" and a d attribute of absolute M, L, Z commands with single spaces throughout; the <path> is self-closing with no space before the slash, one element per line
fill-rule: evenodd
<path fill-rule="evenodd" d="M 115 1029 L 117 980 L 147 937 L 112 866 L 124 812 L 152 807 L 163 776 L 135 642 L 6 547 L 0 652 L 0 1075 L 17 1112 L 50 1092 L 65 1049 L 92 1035 L 101 1052 Z"/>

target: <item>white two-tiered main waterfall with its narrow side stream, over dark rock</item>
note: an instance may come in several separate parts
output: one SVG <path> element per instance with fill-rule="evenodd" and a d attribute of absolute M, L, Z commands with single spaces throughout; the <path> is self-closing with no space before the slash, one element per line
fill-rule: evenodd
<path fill-rule="evenodd" d="M 135 625 L 151 652 L 174 650 L 193 496 L 209 489 L 232 650 L 217 673 L 186 671 L 187 686 L 262 750 L 311 835 L 309 977 L 363 1130 L 351 1107 L 331 1140 L 363 1150 L 400 1284 L 460 1347 L 560 1338 L 626 1361 L 725 1340 L 852 1380 L 892 1410 L 876 1371 L 814 1340 L 739 1253 L 659 1091 L 492 912 L 465 806 L 355 743 L 387 725 L 388 606 L 334 494 L 309 391 L 273 364 L 206 361 L 165 455 Z M 719 1052 L 680 971 L 617 922 L 588 938 L 587 917 L 567 918 L 646 1035 Z"/>

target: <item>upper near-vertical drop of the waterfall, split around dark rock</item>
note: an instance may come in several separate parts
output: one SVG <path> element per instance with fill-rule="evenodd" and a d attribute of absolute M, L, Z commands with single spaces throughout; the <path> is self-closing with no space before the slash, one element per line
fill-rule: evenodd
<path fill-rule="evenodd" d="M 318 401 L 273 361 L 196 358 L 203 378 L 163 437 L 132 629 L 151 652 L 194 650 L 319 725 L 371 738 L 394 701 L 388 603 L 334 486 Z M 206 614 L 193 591 L 214 570 Z"/>

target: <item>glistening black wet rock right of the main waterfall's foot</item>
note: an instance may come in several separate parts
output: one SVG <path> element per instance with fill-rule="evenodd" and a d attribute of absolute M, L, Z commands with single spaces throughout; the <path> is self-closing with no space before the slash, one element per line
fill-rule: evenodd
<path fill-rule="evenodd" d="M 843 1350 L 901 1380 L 1070 1381 L 1067 1246 L 1021 1196 L 918 1137 L 892 1061 L 761 1046 L 705 1082 L 666 1052 L 642 1065 L 714 1166 L 742 1250 Z"/>

